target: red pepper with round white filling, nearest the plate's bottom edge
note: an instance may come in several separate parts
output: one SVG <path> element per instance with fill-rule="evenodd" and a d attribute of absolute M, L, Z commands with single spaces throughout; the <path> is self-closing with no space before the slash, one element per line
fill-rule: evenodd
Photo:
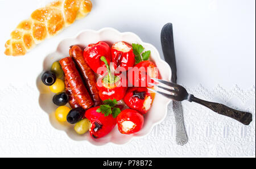
<path fill-rule="evenodd" d="M 125 109 L 117 116 L 118 130 L 122 134 L 133 134 L 142 129 L 144 117 L 134 109 Z"/>

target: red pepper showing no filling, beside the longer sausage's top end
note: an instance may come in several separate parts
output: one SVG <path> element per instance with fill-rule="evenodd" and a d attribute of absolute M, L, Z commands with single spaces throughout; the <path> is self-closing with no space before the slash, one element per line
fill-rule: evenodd
<path fill-rule="evenodd" d="M 101 56 L 105 56 L 110 64 L 111 49 L 104 41 L 99 41 L 97 44 L 89 44 L 88 47 L 84 49 L 84 59 L 95 73 L 99 71 L 99 67 L 105 67 L 104 62 L 101 61 Z M 98 74 L 103 74 L 105 71 L 102 70 L 98 72 Z"/>

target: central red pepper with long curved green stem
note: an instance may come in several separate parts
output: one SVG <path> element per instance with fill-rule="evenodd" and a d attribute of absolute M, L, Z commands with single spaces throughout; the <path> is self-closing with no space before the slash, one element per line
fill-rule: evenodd
<path fill-rule="evenodd" d="M 127 90 L 126 77 L 111 74 L 110 67 L 108 62 L 106 61 L 106 58 L 102 56 L 101 60 L 105 63 L 107 67 L 108 75 L 105 75 L 104 77 L 98 79 L 97 88 L 100 98 L 101 100 L 116 99 L 117 101 L 119 101 L 123 98 L 123 96 L 125 96 Z"/>

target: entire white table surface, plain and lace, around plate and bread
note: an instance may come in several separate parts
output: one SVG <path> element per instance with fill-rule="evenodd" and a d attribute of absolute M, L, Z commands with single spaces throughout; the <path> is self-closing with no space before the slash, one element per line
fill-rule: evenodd
<path fill-rule="evenodd" d="M 88 17 L 25 57 L 3 55 L 12 29 L 49 1 L 0 0 L 5 23 L 0 31 L 0 157 L 255 156 L 254 0 L 92 0 Z M 253 113 L 249 126 L 184 102 L 189 139 L 184 146 L 176 145 L 171 105 L 166 119 L 148 136 L 126 145 L 94 146 L 53 128 L 39 107 L 36 78 L 61 40 L 83 29 L 113 27 L 136 33 L 162 56 L 160 31 L 168 22 L 174 25 L 178 82 L 201 99 Z"/>

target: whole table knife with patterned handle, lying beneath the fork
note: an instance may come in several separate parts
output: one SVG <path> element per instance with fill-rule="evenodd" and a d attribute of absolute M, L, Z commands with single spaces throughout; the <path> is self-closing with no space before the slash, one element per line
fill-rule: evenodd
<path fill-rule="evenodd" d="M 164 60 L 170 65 L 172 70 L 171 81 L 177 83 L 177 67 L 174 48 L 174 32 L 172 23 L 167 23 L 161 31 L 161 44 L 164 54 Z M 176 122 L 176 143 L 178 145 L 185 145 L 188 142 L 187 132 L 183 120 L 183 107 L 181 102 L 172 102 L 172 109 L 174 111 Z"/>

